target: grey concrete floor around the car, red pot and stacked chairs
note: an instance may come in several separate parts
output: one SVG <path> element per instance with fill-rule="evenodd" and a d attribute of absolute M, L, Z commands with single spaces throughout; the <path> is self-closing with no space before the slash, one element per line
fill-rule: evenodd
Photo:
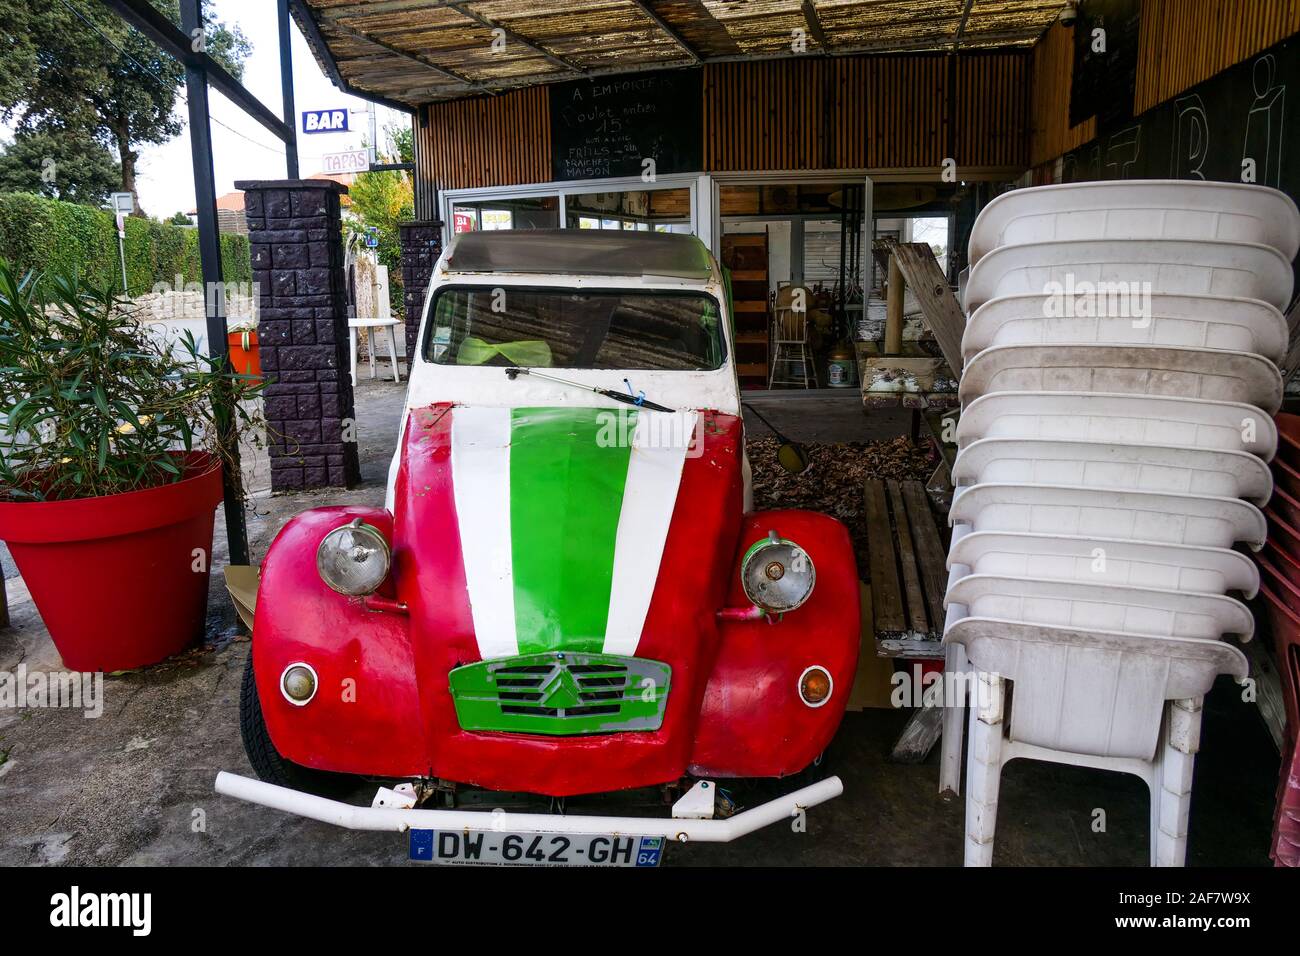
<path fill-rule="evenodd" d="M 351 492 L 260 498 L 250 506 L 256 558 L 298 511 L 329 502 L 378 503 L 396 434 L 402 389 L 358 389 L 363 484 Z M 864 415 L 853 392 L 777 398 L 746 394 L 772 423 L 803 441 L 863 441 L 906 428 L 902 412 Z M 749 416 L 746 416 L 749 418 Z M 751 434 L 764 431 L 749 423 Z M 218 514 L 213 564 L 225 563 Z M 10 579 L 14 626 L 0 631 L 0 670 L 57 666 L 21 580 Z M 355 834 L 217 797 L 217 770 L 251 773 L 239 741 L 238 689 L 248 643 L 217 575 L 209 646 L 105 682 L 105 710 L 0 710 L 0 865 L 402 864 L 395 834 Z M 112 627 L 105 615 L 105 627 Z M 731 845 L 672 847 L 666 865 L 958 865 L 962 803 L 939 797 L 937 748 L 922 765 L 887 754 L 907 713 L 849 714 L 828 750 L 845 793 L 809 812 L 807 832 L 775 825 Z M 1266 865 L 1278 757 L 1254 710 L 1230 682 L 1206 704 L 1190 864 Z M 736 784 L 751 805 L 785 784 Z M 370 787 L 352 796 L 365 803 Z M 571 812 L 636 809 L 654 795 L 569 801 Z M 491 797 L 490 805 L 500 805 Z M 1104 832 L 1093 831 L 1105 812 Z M 1147 795 L 1136 778 L 1013 763 L 998 813 L 998 865 L 1144 865 Z"/>

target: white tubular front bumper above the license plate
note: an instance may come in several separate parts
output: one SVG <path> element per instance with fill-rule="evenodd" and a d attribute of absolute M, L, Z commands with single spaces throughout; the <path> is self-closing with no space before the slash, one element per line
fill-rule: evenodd
<path fill-rule="evenodd" d="M 303 793 L 239 774 L 217 774 L 216 790 L 225 796 L 261 804 L 308 819 L 333 823 L 347 830 L 463 830 L 507 831 L 519 834 L 625 834 L 666 836 L 679 843 L 731 843 L 781 819 L 790 819 L 810 806 L 824 804 L 844 792 L 838 777 L 768 800 L 725 819 L 682 819 L 664 817 L 558 816 L 550 813 L 507 813 L 504 810 L 421 810 L 394 806 L 355 806 L 338 800 Z"/>

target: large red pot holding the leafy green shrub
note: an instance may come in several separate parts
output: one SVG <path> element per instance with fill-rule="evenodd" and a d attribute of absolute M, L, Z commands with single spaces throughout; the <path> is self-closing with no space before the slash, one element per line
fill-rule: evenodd
<path fill-rule="evenodd" d="M 157 488 L 0 501 L 0 540 L 65 666 L 140 667 L 203 635 L 220 501 L 221 466 L 202 453 L 186 458 L 182 480 Z"/>

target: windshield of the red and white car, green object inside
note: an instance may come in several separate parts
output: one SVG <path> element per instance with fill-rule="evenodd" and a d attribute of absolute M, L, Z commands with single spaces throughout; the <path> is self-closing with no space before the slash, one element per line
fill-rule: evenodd
<path fill-rule="evenodd" d="M 718 302 L 658 289 L 447 286 L 424 341 L 441 365 L 697 372 L 724 356 Z"/>

